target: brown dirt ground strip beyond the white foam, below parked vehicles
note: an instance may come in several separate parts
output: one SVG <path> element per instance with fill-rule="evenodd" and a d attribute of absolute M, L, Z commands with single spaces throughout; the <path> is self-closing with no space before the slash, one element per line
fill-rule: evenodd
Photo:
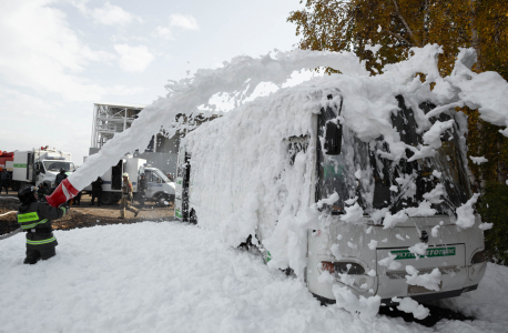
<path fill-rule="evenodd" d="M 18 211 L 20 202 L 17 194 L 0 194 L 0 215 Z M 172 220 L 174 214 L 174 204 L 159 206 L 155 203 L 146 201 L 144 208 L 140 209 L 139 203 L 134 201 L 134 206 L 140 209 L 140 213 L 134 218 L 134 213 L 125 211 L 125 219 L 120 216 L 120 205 L 90 205 L 91 195 L 82 195 L 80 205 L 72 205 L 71 210 L 63 219 L 54 221 L 53 229 L 70 230 L 75 228 L 89 228 L 101 224 L 125 224 L 142 221 L 166 221 Z M 16 213 L 0 216 L 0 235 L 14 231 L 19 228 L 16 220 Z"/>

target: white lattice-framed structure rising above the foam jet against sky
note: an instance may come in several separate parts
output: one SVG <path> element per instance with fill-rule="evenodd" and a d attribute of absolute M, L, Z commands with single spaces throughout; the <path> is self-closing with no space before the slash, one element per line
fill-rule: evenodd
<path fill-rule="evenodd" d="M 144 107 L 143 104 L 94 103 L 91 147 L 101 149 L 115 133 L 129 129 Z"/>

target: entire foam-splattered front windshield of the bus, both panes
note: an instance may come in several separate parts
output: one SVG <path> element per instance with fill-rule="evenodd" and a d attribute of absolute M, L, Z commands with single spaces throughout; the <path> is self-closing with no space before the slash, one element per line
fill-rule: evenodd
<path fill-rule="evenodd" d="M 433 107 L 420 105 L 425 112 L 434 109 Z M 402 97 L 399 108 L 400 111 L 393 115 L 392 121 L 400 132 L 400 140 L 412 147 L 423 144 L 413 111 L 404 105 Z M 321 138 L 324 135 L 324 118 L 329 118 L 329 114 L 319 114 Z M 454 114 L 441 113 L 438 119 L 430 121 L 447 121 Z M 389 150 L 383 137 L 368 143 L 363 142 L 347 127 L 343 128 L 339 155 L 327 155 L 322 141 L 318 138 L 316 201 L 327 199 L 336 192 L 338 201 L 326 206 L 332 214 L 344 213 L 344 202 L 352 198 L 357 198 L 365 213 L 379 209 L 388 209 L 395 213 L 416 208 L 427 200 L 438 213 L 449 214 L 471 196 L 457 125 L 441 135 L 443 147 L 436 150 L 434 157 L 413 162 L 407 162 L 413 155 L 410 150 L 406 150 L 406 159 L 399 162 L 385 159 L 379 151 L 389 153 Z M 428 193 L 433 190 L 443 193 L 429 199 Z"/>

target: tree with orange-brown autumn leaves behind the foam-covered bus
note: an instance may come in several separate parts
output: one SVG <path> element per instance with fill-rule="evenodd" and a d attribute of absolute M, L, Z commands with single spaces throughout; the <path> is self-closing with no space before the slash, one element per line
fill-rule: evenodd
<path fill-rule="evenodd" d="M 438 43 L 443 74 L 459 48 L 475 48 L 477 70 L 508 79 L 508 0 L 306 0 L 287 18 L 305 50 L 353 51 L 376 74 L 407 58 L 412 47 Z M 380 44 L 377 59 L 365 47 Z"/>

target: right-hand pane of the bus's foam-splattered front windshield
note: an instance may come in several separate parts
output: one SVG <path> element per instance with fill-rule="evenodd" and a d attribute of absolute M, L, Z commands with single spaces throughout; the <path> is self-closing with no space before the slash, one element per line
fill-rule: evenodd
<path fill-rule="evenodd" d="M 423 144 L 421 134 L 416 130 L 413 111 L 404 105 L 402 98 L 399 98 L 399 108 L 400 111 L 392 117 L 392 122 L 400 132 L 400 140 L 412 147 Z M 427 113 L 434 109 L 434 105 L 424 103 L 420 109 Z M 441 113 L 438 119 L 431 118 L 430 121 L 444 122 L 450 120 L 454 114 Z M 373 209 L 389 208 L 390 211 L 396 212 L 405 208 L 418 206 L 429 199 L 428 193 L 439 188 L 443 194 L 429 201 L 431 208 L 438 213 L 455 212 L 469 200 L 471 192 L 465 168 L 465 155 L 460 149 L 459 129 L 456 124 L 454 129 L 443 133 L 441 142 L 441 148 L 437 149 L 431 158 L 413 162 L 403 159 L 394 163 L 376 153 L 376 150 L 388 152 L 386 143 L 380 139 L 376 140 L 376 144 L 369 151 L 375 185 Z M 412 155 L 413 152 L 406 150 L 407 159 Z"/>

